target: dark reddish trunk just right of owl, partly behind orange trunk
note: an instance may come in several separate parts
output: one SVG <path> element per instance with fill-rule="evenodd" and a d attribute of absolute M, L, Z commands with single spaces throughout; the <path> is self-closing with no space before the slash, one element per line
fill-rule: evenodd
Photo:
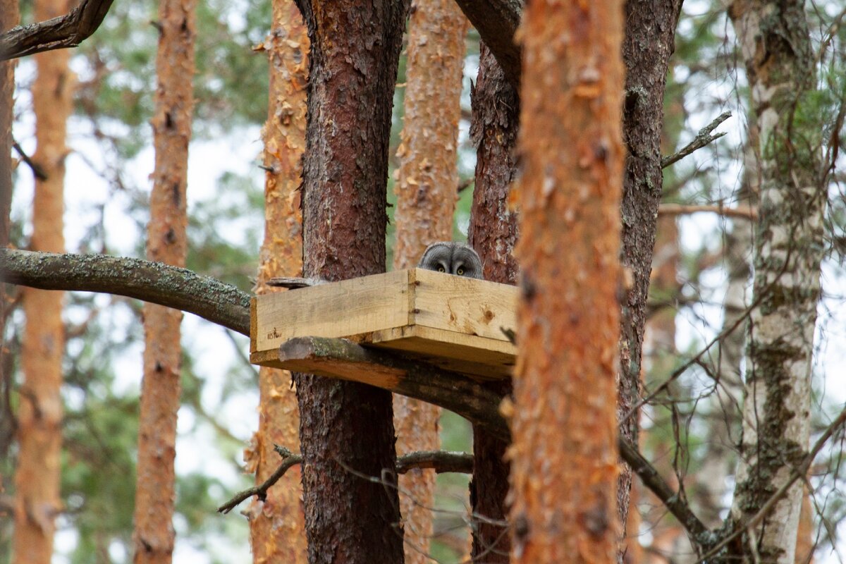
<path fill-rule="evenodd" d="M 508 208 L 511 182 L 517 172 L 519 101 L 497 60 L 484 43 L 479 56 L 479 76 L 473 92 L 470 135 L 476 144 L 475 190 L 470 211 L 470 245 L 479 253 L 485 279 L 514 284 L 517 260 L 517 214 Z M 511 382 L 497 386 L 507 395 Z M 508 517 L 508 444 L 479 427 L 473 428 L 473 480 L 470 505 L 481 516 L 473 527 L 472 556 L 490 564 L 507 563 L 511 538 L 504 522 Z"/>

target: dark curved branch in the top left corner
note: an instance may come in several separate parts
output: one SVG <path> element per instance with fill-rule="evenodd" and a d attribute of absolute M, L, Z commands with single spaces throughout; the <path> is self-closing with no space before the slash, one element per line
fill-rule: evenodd
<path fill-rule="evenodd" d="M 8 30 L 0 35 L 0 61 L 78 46 L 100 27 L 113 1 L 82 0 L 68 14 Z"/>

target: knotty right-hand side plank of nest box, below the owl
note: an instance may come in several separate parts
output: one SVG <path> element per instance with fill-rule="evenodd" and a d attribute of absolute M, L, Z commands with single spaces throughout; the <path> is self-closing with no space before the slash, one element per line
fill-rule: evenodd
<path fill-rule="evenodd" d="M 508 284 L 414 271 L 415 310 L 409 325 L 508 341 L 501 327 L 517 327 L 517 289 Z"/>

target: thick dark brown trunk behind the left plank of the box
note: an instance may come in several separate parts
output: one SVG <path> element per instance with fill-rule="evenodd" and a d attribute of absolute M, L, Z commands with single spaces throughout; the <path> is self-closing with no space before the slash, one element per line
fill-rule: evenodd
<path fill-rule="evenodd" d="M 304 273 L 385 270 L 387 145 L 408 1 L 299 0 L 310 74 Z M 309 561 L 403 561 L 391 394 L 295 375 Z"/>

